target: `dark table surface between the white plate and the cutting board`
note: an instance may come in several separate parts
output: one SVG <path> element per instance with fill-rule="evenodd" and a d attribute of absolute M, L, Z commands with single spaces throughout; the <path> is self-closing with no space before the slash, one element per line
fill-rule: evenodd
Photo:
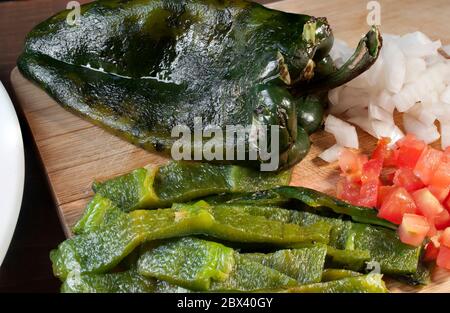
<path fill-rule="evenodd" d="M 65 9 L 67 2 L 0 0 L 0 81 L 13 103 L 16 101 L 9 74 L 26 34 L 38 22 Z M 48 255 L 65 237 L 33 137 L 20 111 L 17 112 L 25 149 L 25 188 L 14 237 L 0 267 L 0 292 L 57 292 L 60 282 L 52 275 Z"/>

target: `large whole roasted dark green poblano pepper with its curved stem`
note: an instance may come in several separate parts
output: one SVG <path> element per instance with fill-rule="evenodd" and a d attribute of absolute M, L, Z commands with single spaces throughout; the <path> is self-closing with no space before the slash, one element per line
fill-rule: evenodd
<path fill-rule="evenodd" d="M 303 127 L 313 131 L 322 118 L 318 111 L 318 121 L 298 123 L 302 100 L 293 94 L 342 85 L 369 68 L 381 48 L 372 29 L 336 69 L 325 18 L 244 0 L 99 0 L 83 5 L 75 24 L 67 23 L 69 12 L 36 26 L 18 60 L 20 71 L 65 108 L 166 154 L 172 129 L 193 130 L 195 117 L 203 130 L 278 125 L 278 138 L 270 127 L 267 134 L 268 142 L 279 142 L 279 169 L 305 156 Z M 249 136 L 244 143 L 245 160 L 236 162 L 262 162 L 250 162 Z"/>

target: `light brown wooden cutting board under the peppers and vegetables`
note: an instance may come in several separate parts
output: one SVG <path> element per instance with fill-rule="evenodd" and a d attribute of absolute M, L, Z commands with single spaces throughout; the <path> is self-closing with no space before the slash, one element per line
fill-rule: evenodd
<path fill-rule="evenodd" d="M 402 34 L 421 30 L 433 39 L 450 43 L 447 19 L 448 0 L 380 1 L 382 30 Z M 366 2 L 361 0 L 315 1 L 286 0 L 268 5 L 289 12 L 327 16 L 336 37 L 356 45 L 367 31 Z M 48 176 L 59 217 L 67 236 L 92 196 L 94 178 L 108 178 L 147 164 L 161 164 L 166 158 L 146 152 L 65 111 L 45 92 L 27 81 L 14 69 L 11 82 L 20 108 L 26 117 Z M 359 132 L 361 148 L 371 151 L 376 141 Z M 308 157 L 295 167 L 292 185 L 333 193 L 338 171 L 336 164 L 317 158 L 334 144 L 330 134 L 312 136 Z M 434 283 L 421 289 L 426 292 L 450 292 L 450 274 L 436 270 Z M 417 288 L 390 283 L 393 291 L 419 291 Z"/>

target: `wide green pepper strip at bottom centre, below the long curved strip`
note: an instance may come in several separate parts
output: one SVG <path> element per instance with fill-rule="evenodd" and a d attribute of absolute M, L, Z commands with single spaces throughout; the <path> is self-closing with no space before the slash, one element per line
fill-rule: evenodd
<path fill-rule="evenodd" d="M 175 240 L 144 253 L 138 271 L 196 291 L 252 291 L 298 284 L 292 277 L 231 248 L 196 238 Z"/>

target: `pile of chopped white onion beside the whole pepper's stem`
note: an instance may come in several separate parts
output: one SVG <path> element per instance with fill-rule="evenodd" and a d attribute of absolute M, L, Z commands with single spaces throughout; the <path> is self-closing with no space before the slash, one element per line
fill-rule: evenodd
<path fill-rule="evenodd" d="M 331 56 L 337 66 L 351 54 L 345 42 L 336 40 Z M 426 143 L 441 138 L 443 149 L 450 146 L 450 60 L 445 54 L 450 55 L 450 46 L 443 47 L 439 40 L 432 41 L 421 32 L 383 35 L 376 63 L 329 92 L 331 107 L 325 130 L 335 136 L 337 143 L 320 157 L 333 162 L 342 147 L 358 148 L 356 129 L 349 123 L 373 137 L 389 137 L 395 143 L 404 136 L 394 122 L 395 110 L 404 113 L 407 133 Z"/>

